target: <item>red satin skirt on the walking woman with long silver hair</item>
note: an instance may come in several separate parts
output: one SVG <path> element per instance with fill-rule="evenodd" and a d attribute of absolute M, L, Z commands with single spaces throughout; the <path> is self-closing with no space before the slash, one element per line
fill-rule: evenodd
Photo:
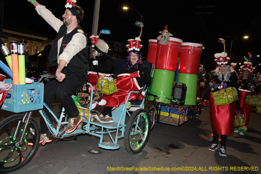
<path fill-rule="evenodd" d="M 210 93 L 210 123 L 213 132 L 219 135 L 234 133 L 235 108 L 235 102 L 226 106 L 215 106 L 212 92 Z"/>

